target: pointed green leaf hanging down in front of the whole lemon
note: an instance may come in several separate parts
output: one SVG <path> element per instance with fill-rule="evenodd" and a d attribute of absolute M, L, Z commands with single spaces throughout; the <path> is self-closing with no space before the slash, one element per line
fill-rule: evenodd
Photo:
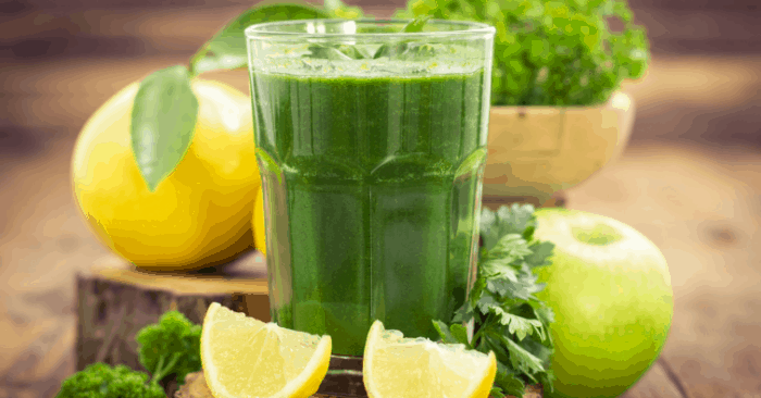
<path fill-rule="evenodd" d="M 198 99 L 185 66 L 154 72 L 137 90 L 130 138 L 135 161 L 150 191 L 185 157 L 198 117 Z"/>

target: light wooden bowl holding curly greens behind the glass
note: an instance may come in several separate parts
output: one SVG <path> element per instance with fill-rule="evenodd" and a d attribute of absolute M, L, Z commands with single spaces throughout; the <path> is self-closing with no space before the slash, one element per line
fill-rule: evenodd
<path fill-rule="evenodd" d="M 634 114 L 621 91 L 589 108 L 491 107 L 484 197 L 544 203 L 582 183 L 621 156 Z"/>

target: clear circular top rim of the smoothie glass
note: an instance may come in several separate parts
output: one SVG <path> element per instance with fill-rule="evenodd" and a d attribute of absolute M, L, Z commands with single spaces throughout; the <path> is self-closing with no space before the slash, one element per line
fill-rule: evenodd
<path fill-rule="evenodd" d="M 289 21 L 278 21 L 278 22 L 265 22 L 248 26 L 245 29 L 247 39 L 296 39 L 296 38 L 310 38 L 310 39 L 329 39 L 329 38 L 349 38 L 349 39 L 399 39 L 399 38 L 440 38 L 440 37 L 462 37 L 464 36 L 481 36 L 481 35 L 494 35 L 497 29 L 482 22 L 472 21 L 449 21 L 449 20 L 428 20 L 427 24 L 438 24 L 438 25 L 461 25 L 465 28 L 454 29 L 454 30 L 435 30 L 435 32 L 367 32 L 367 33 L 305 33 L 305 32 L 276 32 L 276 30 L 263 30 L 266 27 L 276 26 L 295 26 L 304 25 L 308 23 L 362 23 L 362 24 L 408 24 L 412 22 L 412 18 L 358 18 L 358 20 L 341 20 L 341 18 L 312 18 L 312 20 L 289 20 Z"/>

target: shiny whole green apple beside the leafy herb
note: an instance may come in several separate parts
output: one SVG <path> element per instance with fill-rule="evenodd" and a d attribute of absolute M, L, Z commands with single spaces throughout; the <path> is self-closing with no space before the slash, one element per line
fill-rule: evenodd
<path fill-rule="evenodd" d="M 671 275 L 658 247 L 616 220 L 565 209 L 536 212 L 535 237 L 556 245 L 537 298 L 554 311 L 554 393 L 617 397 L 652 365 L 674 313 Z"/>

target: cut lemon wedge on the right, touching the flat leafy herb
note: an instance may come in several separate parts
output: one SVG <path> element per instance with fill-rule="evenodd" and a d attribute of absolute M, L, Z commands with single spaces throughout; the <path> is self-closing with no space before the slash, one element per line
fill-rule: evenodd
<path fill-rule="evenodd" d="M 380 321 L 370 328 L 363 361 L 371 398 L 487 398 L 497 375 L 494 352 L 404 338 Z"/>

